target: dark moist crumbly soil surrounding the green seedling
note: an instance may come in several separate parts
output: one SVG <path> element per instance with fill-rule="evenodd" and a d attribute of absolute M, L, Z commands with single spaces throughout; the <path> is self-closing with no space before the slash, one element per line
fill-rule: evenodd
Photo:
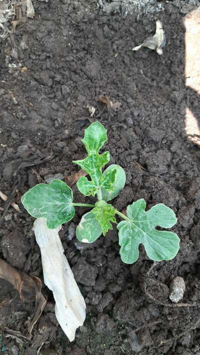
<path fill-rule="evenodd" d="M 4 327 L 27 336 L 25 321 L 34 304 L 23 303 L 1 279 L 0 351 L 199 355 L 200 153 L 184 124 L 186 107 L 199 118 L 199 98 L 185 86 L 184 15 L 170 1 L 159 13 L 167 40 L 159 56 L 147 48 L 131 51 L 154 33 L 155 20 L 138 19 L 120 7 L 104 13 L 92 0 L 33 4 L 35 17 L 17 25 L 11 40 L 0 38 L 0 190 L 12 194 L 21 209 L 0 211 L 0 257 L 42 280 L 33 218 L 20 197 L 38 181 L 77 172 L 72 160 L 85 156 L 80 139 L 95 120 L 108 131 L 103 149 L 110 151 L 110 163 L 126 172 L 114 206 L 121 211 L 139 198 L 147 208 L 166 204 L 178 218 L 172 231 L 180 237 L 180 250 L 171 261 L 152 263 L 141 247 L 138 261 L 125 265 L 115 227 L 92 245 L 77 242 L 75 227 L 87 211 L 77 209 L 60 238 L 86 302 L 83 327 L 69 343 L 43 285 L 48 302 L 30 341 L 7 337 Z M 120 107 L 107 109 L 99 102 L 102 94 Z M 95 108 L 92 117 L 87 105 Z M 72 189 L 76 202 L 92 201 L 75 185 Z M 2 210 L 6 205 L 0 204 Z M 180 304 L 168 299 L 175 276 L 186 286 Z"/>

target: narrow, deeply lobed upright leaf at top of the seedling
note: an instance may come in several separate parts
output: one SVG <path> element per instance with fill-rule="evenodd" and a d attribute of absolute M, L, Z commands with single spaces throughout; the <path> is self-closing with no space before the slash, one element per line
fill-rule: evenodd
<path fill-rule="evenodd" d="M 117 165 L 102 174 L 102 167 L 109 162 L 109 152 L 99 154 L 100 148 L 107 140 L 106 129 L 98 121 L 90 124 L 85 129 L 82 142 L 88 153 L 83 160 L 76 160 L 73 163 L 79 165 L 89 174 L 91 180 L 86 177 L 80 177 L 77 182 L 78 190 L 85 196 L 92 195 L 102 191 L 114 191 Z M 106 169 L 107 170 L 107 169 Z M 108 201 L 108 200 L 107 200 Z"/>

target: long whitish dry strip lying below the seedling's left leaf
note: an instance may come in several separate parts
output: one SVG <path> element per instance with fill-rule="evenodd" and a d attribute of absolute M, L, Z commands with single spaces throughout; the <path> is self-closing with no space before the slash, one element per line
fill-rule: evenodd
<path fill-rule="evenodd" d="M 85 320 L 85 302 L 63 254 L 58 235 L 60 229 L 61 226 L 48 229 L 45 218 L 36 219 L 33 225 L 41 252 L 44 283 L 53 293 L 57 321 L 72 342 L 76 329 Z"/>

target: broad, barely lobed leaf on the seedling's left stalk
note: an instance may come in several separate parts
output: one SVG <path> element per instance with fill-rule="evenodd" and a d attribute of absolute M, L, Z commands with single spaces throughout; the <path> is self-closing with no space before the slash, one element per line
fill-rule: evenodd
<path fill-rule="evenodd" d="M 73 218 L 75 210 L 72 200 L 73 193 L 70 187 L 56 179 L 49 185 L 35 185 L 21 197 L 27 212 L 35 218 L 46 218 L 49 229 L 57 228 Z"/>

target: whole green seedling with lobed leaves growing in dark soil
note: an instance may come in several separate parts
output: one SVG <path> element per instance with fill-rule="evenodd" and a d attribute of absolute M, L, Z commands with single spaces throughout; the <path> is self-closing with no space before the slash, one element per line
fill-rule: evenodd
<path fill-rule="evenodd" d="M 87 157 L 73 161 L 90 176 L 90 180 L 79 178 L 78 190 L 84 196 L 97 195 L 97 202 L 74 203 L 72 190 L 63 181 L 53 180 L 49 185 L 38 184 L 28 190 L 21 198 L 23 206 L 31 216 L 46 218 L 50 229 L 70 221 L 75 213 L 74 207 L 91 207 L 76 228 L 77 239 L 86 243 L 94 242 L 101 234 L 105 236 L 112 229 L 112 223 L 117 223 L 117 215 L 123 220 L 117 224 L 117 229 L 124 263 L 132 264 L 137 260 L 139 244 L 143 244 L 147 256 L 154 261 L 174 258 L 179 249 L 178 236 L 155 229 L 156 226 L 170 228 L 176 223 L 170 208 L 160 203 L 145 211 L 146 203 L 140 199 L 127 206 L 125 216 L 107 203 L 123 188 L 125 172 L 119 165 L 112 164 L 102 173 L 102 167 L 109 162 L 109 152 L 99 154 L 99 150 L 106 140 L 106 129 L 97 121 L 92 123 L 85 129 L 82 139 Z"/>

